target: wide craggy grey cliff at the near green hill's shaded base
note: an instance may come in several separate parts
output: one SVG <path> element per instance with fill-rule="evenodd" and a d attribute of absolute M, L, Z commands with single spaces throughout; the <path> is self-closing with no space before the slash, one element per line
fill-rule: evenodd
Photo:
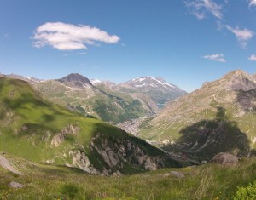
<path fill-rule="evenodd" d="M 129 165 L 133 169 L 156 170 L 165 166 L 161 156 L 150 156 L 147 152 L 129 139 L 121 140 L 102 137 L 102 134 L 90 140 L 90 152 L 97 156 L 90 160 L 88 150 L 83 148 L 69 151 L 72 163 L 66 163 L 68 167 L 84 170 L 90 174 L 121 176 L 122 169 Z M 97 162 L 96 162 L 97 160 Z M 98 163 L 100 161 L 100 163 Z M 96 163 L 95 163 L 96 162 Z M 97 167 L 96 167 L 97 166 Z"/>

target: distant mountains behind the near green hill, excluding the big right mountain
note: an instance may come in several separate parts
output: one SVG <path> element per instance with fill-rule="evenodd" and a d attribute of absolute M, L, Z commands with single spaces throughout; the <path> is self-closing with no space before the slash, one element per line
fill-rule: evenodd
<path fill-rule="evenodd" d="M 120 84 L 92 80 L 93 84 L 90 79 L 78 73 L 45 81 L 18 75 L 7 77 L 25 80 L 45 98 L 109 123 L 152 116 L 167 101 L 186 94 L 160 77 L 141 77 Z M 141 80 L 142 85 L 138 85 L 138 80 Z"/>

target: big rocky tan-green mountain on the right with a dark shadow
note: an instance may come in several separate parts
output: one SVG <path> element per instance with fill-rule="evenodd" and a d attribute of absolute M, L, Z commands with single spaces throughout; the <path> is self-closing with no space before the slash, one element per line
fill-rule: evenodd
<path fill-rule="evenodd" d="M 256 79 L 233 71 L 165 107 L 141 135 L 167 150 L 210 159 L 219 151 L 255 155 Z"/>

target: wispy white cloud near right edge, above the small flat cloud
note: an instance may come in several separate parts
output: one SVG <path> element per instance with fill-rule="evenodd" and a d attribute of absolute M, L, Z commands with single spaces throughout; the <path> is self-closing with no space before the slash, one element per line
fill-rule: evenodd
<path fill-rule="evenodd" d="M 232 28 L 231 26 L 225 26 L 229 31 L 233 32 L 236 36 L 236 39 L 241 44 L 241 47 L 246 48 L 247 42 L 253 37 L 254 32 L 245 29 L 239 29 L 239 27 Z"/>

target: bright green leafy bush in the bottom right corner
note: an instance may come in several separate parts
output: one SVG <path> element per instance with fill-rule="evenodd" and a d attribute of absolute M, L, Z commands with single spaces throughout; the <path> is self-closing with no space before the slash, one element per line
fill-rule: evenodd
<path fill-rule="evenodd" d="M 246 187 L 238 187 L 234 200 L 254 200 L 256 199 L 256 181 Z"/>

